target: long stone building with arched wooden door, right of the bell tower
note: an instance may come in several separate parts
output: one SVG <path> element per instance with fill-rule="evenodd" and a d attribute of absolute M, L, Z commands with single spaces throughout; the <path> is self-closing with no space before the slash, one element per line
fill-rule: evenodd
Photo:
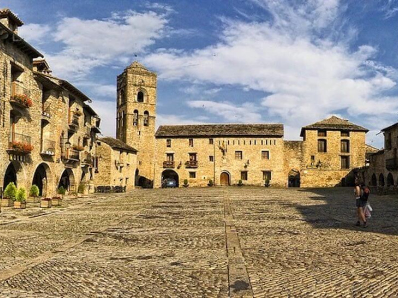
<path fill-rule="evenodd" d="M 155 187 L 165 178 L 192 186 L 285 186 L 282 124 L 160 126 L 156 132 Z"/>

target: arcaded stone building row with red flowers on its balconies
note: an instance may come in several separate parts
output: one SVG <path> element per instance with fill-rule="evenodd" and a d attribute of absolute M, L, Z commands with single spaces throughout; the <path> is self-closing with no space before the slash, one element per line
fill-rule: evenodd
<path fill-rule="evenodd" d="M 22 21 L 0 10 L 0 187 L 9 182 L 43 196 L 59 186 L 94 191 L 100 119 L 91 99 L 51 75 L 43 56 L 17 35 Z"/>

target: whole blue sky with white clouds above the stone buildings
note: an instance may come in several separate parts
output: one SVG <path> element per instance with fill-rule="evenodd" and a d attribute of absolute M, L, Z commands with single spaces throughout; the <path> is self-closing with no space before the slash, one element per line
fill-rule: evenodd
<path fill-rule="evenodd" d="M 116 75 L 158 73 L 157 123 L 398 119 L 398 0 L 0 0 L 53 74 L 94 99 L 114 135 Z"/>

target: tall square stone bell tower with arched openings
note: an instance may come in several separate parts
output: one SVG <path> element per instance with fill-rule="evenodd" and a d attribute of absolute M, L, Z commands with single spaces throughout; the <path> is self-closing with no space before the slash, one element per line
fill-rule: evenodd
<path fill-rule="evenodd" d="M 136 185 L 146 187 L 154 176 L 156 83 L 137 61 L 117 76 L 116 138 L 138 150 Z"/>

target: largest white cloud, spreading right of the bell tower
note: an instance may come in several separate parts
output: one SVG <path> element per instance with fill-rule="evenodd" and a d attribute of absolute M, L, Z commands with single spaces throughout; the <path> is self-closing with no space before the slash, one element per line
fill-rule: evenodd
<path fill-rule="evenodd" d="M 271 12 L 272 21 L 226 20 L 219 42 L 193 51 L 162 49 L 147 56 L 145 63 L 163 79 L 266 92 L 263 114 L 291 127 L 341 111 L 357 116 L 397 110 L 398 98 L 384 95 L 396 85 L 394 70 L 369 65 L 377 49 L 363 45 L 352 51 L 346 38 L 335 40 L 333 33 L 325 34 L 333 32 L 340 19 L 339 1 L 256 2 Z M 352 36 L 350 30 L 347 36 Z M 213 107 L 206 112 L 226 118 L 239 111 L 239 104 L 216 104 L 211 102 Z M 250 122 L 262 119 L 255 108 L 246 111 L 254 113 Z"/>

